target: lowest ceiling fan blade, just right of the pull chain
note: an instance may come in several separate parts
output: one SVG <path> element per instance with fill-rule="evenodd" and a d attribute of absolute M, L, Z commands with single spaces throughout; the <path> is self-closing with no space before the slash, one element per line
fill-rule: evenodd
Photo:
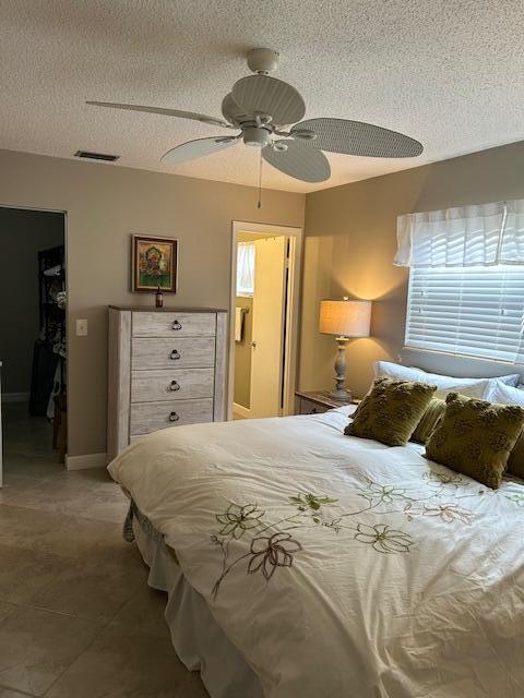
<path fill-rule="evenodd" d="M 300 141 L 278 141 L 278 143 L 287 145 L 287 149 L 277 151 L 271 146 L 262 148 L 264 160 L 277 170 L 302 182 L 324 182 L 330 179 L 330 163 L 321 151 Z"/>

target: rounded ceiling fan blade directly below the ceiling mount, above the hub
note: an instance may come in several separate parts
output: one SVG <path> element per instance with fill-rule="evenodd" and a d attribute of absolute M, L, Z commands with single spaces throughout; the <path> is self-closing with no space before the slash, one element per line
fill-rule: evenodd
<path fill-rule="evenodd" d="M 296 123 L 306 113 L 300 94 L 282 80 L 269 75 L 248 75 L 233 86 L 231 97 L 247 113 L 271 116 L 272 123 Z"/>

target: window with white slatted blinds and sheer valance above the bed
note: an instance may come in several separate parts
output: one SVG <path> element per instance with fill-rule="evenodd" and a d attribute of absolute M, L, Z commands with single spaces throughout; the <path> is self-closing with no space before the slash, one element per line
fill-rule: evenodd
<path fill-rule="evenodd" d="M 407 347 L 524 363 L 524 200 L 405 214 Z"/>

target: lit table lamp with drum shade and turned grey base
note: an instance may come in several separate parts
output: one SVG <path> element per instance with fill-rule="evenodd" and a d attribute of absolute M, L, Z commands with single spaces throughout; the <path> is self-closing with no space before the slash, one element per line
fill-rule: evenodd
<path fill-rule="evenodd" d="M 350 402 L 352 394 L 345 387 L 346 346 L 353 337 L 369 337 L 371 301 L 344 298 L 337 301 L 320 301 L 319 332 L 335 335 L 338 353 L 335 359 L 336 387 L 330 396 L 341 402 Z"/>

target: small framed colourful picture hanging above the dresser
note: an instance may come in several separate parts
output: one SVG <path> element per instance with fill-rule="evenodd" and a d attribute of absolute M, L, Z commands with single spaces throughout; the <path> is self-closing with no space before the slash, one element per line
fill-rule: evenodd
<path fill-rule="evenodd" d="M 132 291 L 177 292 L 178 240 L 132 236 Z"/>

